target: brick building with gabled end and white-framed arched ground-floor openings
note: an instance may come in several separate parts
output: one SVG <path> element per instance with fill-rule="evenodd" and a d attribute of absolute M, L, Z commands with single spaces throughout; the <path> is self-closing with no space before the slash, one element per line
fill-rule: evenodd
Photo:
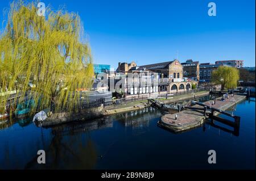
<path fill-rule="evenodd" d="M 126 62 L 119 62 L 117 68 L 117 75 L 124 73 L 126 76 L 126 96 L 152 96 L 158 94 L 170 94 L 171 92 L 190 90 L 192 82 L 184 81 L 183 79 L 183 66 L 179 60 L 160 62 L 157 64 L 141 65 L 138 66 L 135 62 L 130 64 Z M 147 81 L 143 84 L 143 79 L 132 79 L 129 83 L 129 73 L 138 74 L 139 77 L 143 75 L 149 79 L 157 79 L 157 84 L 154 85 L 152 81 Z M 136 83 L 136 86 L 134 85 Z M 197 85 L 197 82 L 193 82 Z"/>

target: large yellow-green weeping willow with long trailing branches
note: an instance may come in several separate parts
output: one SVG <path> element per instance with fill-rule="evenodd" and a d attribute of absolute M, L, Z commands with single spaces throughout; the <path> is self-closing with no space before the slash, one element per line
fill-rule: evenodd
<path fill-rule="evenodd" d="M 0 36 L 0 90 L 16 90 L 16 96 L 0 96 L 1 112 L 10 96 L 18 103 L 32 96 L 37 106 L 31 113 L 52 103 L 55 110 L 71 111 L 79 101 L 76 90 L 92 86 L 92 56 L 80 16 L 50 7 L 45 16 L 37 12 L 37 2 L 14 1 L 7 13 Z M 35 85 L 31 91 L 29 84 Z"/>

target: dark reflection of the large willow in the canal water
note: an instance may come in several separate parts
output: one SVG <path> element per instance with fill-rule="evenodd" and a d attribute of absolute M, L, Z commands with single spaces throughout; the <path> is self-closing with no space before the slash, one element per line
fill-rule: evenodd
<path fill-rule="evenodd" d="M 24 169 L 93 169 L 97 163 L 96 147 L 90 137 L 82 134 L 56 134 L 46 151 L 46 164 L 38 164 L 38 155 Z"/>

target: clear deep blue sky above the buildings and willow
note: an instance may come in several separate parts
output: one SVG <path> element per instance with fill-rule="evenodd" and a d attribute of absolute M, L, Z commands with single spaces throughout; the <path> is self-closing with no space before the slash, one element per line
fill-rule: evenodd
<path fill-rule="evenodd" d="M 181 62 L 245 60 L 255 66 L 254 0 L 41 2 L 79 12 L 97 64 L 154 64 L 174 60 L 178 51 Z M 209 2 L 216 3 L 217 16 L 208 16 Z M 1 0 L 0 10 L 9 4 Z"/>

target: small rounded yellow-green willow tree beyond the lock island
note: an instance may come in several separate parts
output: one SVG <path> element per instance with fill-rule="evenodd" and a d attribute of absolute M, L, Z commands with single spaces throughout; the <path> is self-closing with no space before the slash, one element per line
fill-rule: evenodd
<path fill-rule="evenodd" d="M 237 68 L 220 66 L 212 73 L 212 82 L 221 84 L 221 89 L 231 89 L 237 87 L 239 81 L 239 71 Z"/>

